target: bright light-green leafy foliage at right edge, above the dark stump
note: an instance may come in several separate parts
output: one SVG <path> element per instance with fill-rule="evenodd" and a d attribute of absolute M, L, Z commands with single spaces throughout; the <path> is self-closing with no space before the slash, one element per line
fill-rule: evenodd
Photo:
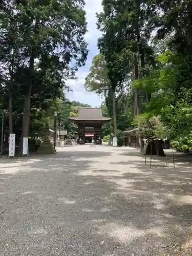
<path fill-rule="evenodd" d="M 155 136 L 151 123 L 148 123 L 152 116 L 156 116 L 162 123 L 162 133 L 164 126 L 172 145 L 178 149 L 190 149 L 192 79 L 186 58 L 176 51 L 166 51 L 158 57 L 162 64 L 160 69 L 133 83 L 135 87 L 138 86 L 146 92 L 150 88 L 153 96 L 150 102 L 143 105 L 144 114 L 140 117 L 143 120 L 139 121 L 141 126 L 145 125 L 147 131 L 141 133 L 148 138 L 158 137 Z"/>

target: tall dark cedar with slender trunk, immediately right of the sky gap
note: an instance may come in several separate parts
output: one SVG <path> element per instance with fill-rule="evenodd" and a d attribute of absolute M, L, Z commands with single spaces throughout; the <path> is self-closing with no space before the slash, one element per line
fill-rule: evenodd
<path fill-rule="evenodd" d="M 151 30 L 147 26 L 153 7 L 146 1 L 103 0 L 103 12 L 98 14 L 98 28 L 102 31 L 99 49 L 105 57 L 113 95 L 121 88 L 134 69 L 135 79 L 145 73 L 145 64 L 154 62 L 153 50 L 147 42 Z M 113 97 L 115 98 L 115 97 Z M 147 100 L 151 95 L 147 94 Z M 140 113 L 139 89 L 135 89 L 135 115 Z M 115 124 L 114 100 L 114 127 Z M 114 129 L 115 130 L 115 129 Z"/>

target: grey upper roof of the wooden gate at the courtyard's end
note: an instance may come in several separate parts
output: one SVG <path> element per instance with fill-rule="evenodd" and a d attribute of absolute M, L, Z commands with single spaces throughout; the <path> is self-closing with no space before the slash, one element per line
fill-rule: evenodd
<path fill-rule="evenodd" d="M 102 116 L 101 109 L 99 108 L 80 108 L 78 115 L 69 117 L 70 120 L 76 121 L 109 121 L 110 117 Z"/>

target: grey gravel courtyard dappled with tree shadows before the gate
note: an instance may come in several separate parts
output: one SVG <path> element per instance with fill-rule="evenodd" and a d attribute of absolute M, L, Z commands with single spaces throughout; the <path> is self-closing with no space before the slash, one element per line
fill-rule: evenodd
<path fill-rule="evenodd" d="M 192 170 L 145 166 L 129 148 L 0 159 L 0 255 L 192 255 Z"/>

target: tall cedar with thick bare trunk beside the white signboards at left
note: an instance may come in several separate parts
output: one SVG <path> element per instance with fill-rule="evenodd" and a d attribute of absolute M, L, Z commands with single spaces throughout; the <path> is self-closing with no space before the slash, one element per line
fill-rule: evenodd
<path fill-rule="evenodd" d="M 22 141 L 29 134 L 31 92 L 36 61 L 42 69 L 50 68 L 50 62 L 63 77 L 68 77 L 84 65 L 87 58 L 87 31 L 84 1 L 15 0 L 9 5 L 14 9 L 14 21 L 19 35 L 19 55 L 25 59 L 28 69 L 28 85 L 23 111 Z M 4 28 L 4 37 L 7 38 Z M 14 35 L 14 34 L 13 34 Z M 6 40 L 9 44 L 9 40 Z M 51 61 L 50 61 L 51 60 Z M 73 60 L 74 66 L 71 67 Z M 54 64 L 53 64 L 54 62 Z"/>

